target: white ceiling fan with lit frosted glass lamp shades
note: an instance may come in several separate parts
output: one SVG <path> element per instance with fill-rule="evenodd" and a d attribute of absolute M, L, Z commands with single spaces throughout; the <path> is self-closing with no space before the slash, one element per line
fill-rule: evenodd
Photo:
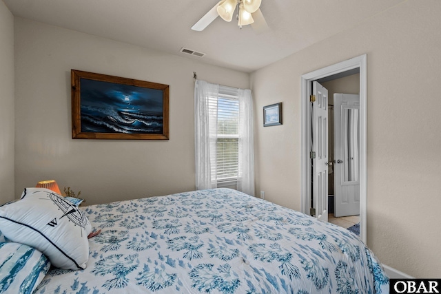
<path fill-rule="evenodd" d="M 269 28 L 259 9 L 260 3 L 262 0 L 220 0 L 192 26 L 192 30 L 199 32 L 204 30 L 217 17 L 221 17 L 224 21 L 232 21 L 237 7 L 236 19 L 239 28 L 243 25 L 251 25 L 257 33 L 266 32 Z"/>

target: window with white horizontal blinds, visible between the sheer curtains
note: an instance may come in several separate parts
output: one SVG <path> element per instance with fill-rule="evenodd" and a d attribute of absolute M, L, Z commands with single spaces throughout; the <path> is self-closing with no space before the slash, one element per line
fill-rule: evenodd
<path fill-rule="evenodd" d="M 209 97 L 209 112 L 217 116 L 216 158 L 212 160 L 212 179 L 218 183 L 238 178 L 239 100 L 238 89 L 219 86 L 218 97 Z"/>

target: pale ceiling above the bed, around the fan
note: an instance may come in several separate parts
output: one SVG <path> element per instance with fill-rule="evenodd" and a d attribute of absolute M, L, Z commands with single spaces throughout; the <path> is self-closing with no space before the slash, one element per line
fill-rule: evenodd
<path fill-rule="evenodd" d="M 218 17 L 202 32 L 190 28 L 218 0 L 3 0 L 15 17 L 223 67 L 253 72 L 348 30 L 404 0 L 262 0 L 270 30 Z M 181 53 L 181 48 L 204 57 Z"/>

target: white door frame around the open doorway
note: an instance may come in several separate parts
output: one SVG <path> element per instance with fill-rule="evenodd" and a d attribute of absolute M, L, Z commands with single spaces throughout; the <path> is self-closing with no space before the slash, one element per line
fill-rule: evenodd
<path fill-rule="evenodd" d="M 311 208 L 311 114 L 309 96 L 311 82 L 334 74 L 354 69 L 360 70 L 360 239 L 367 244 L 367 54 L 363 54 L 334 65 L 303 74 L 300 77 L 301 89 L 301 207 L 309 214 Z"/>

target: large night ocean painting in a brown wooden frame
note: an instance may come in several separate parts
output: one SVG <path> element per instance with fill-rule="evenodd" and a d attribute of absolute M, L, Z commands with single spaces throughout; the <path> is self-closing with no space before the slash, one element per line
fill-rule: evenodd
<path fill-rule="evenodd" d="M 169 85 L 70 72 L 72 138 L 169 139 Z"/>

